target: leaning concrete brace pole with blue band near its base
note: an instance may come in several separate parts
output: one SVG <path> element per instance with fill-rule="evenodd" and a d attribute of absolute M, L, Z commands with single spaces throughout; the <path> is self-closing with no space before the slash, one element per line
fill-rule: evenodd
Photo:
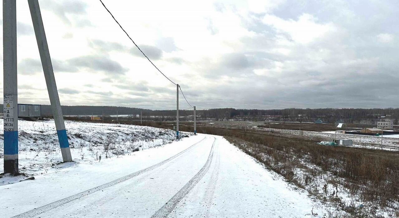
<path fill-rule="evenodd" d="M 53 65 L 51 64 L 43 20 L 41 19 L 39 2 L 38 0 L 28 0 L 28 4 L 30 15 L 32 16 L 36 41 L 38 42 L 41 65 L 43 67 L 44 78 L 47 84 L 47 91 L 49 93 L 51 111 L 54 116 L 55 128 L 57 129 L 59 146 L 61 147 L 62 159 L 64 162 L 72 161 L 67 131 L 65 130 L 64 118 L 62 116 L 61 103 L 59 102 L 57 84 L 55 84 Z"/>

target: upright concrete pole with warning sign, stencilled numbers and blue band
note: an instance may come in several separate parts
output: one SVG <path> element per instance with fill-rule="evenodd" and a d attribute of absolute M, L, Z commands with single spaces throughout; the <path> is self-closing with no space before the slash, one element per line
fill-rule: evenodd
<path fill-rule="evenodd" d="M 4 173 L 18 175 L 16 1 L 3 0 Z"/>

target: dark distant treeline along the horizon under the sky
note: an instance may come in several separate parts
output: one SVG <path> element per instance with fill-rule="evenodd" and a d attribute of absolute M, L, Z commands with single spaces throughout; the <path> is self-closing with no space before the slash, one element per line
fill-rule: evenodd
<path fill-rule="evenodd" d="M 114 114 L 142 114 L 144 116 L 174 116 L 176 110 L 149 110 L 142 108 L 116 107 L 116 106 L 61 106 L 64 115 L 114 115 Z M 0 108 L 3 105 L 0 104 Z M 41 106 L 42 115 L 52 115 L 49 105 Z M 180 110 L 180 115 L 192 115 L 192 109 Z M 235 108 L 213 108 L 208 110 L 197 110 L 197 114 L 207 118 L 233 118 L 233 117 L 265 117 L 265 116 L 279 116 L 284 118 L 324 118 L 326 122 L 337 119 L 362 120 L 362 119 L 377 119 L 380 116 L 387 116 L 387 118 L 399 118 L 399 108 L 286 108 L 286 109 L 272 109 L 272 110 L 257 110 L 257 109 L 235 109 Z"/>

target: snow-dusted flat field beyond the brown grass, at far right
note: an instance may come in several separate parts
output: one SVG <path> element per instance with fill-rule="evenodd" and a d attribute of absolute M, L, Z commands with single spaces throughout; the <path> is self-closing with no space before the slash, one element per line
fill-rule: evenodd
<path fill-rule="evenodd" d="M 253 126 L 258 130 L 269 131 L 269 128 L 259 128 Z M 381 149 L 381 136 L 363 136 L 353 134 L 336 134 L 334 131 L 328 132 L 313 132 L 313 131 L 299 131 L 299 130 L 280 130 L 271 129 L 272 132 L 284 134 L 286 136 L 303 137 L 306 139 L 314 139 L 318 141 L 332 141 L 334 139 L 352 139 L 354 147 L 367 147 L 371 149 Z M 399 136 L 387 135 L 382 136 L 383 149 L 397 151 L 399 150 Z"/>

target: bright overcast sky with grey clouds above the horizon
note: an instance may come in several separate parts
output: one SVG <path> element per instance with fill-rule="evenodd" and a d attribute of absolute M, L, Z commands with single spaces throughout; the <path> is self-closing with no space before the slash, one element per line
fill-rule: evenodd
<path fill-rule="evenodd" d="M 399 105 L 399 1 L 103 1 L 198 109 Z M 39 3 L 62 105 L 176 107 L 98 0 Z M 18 102 L 49 104 L 27 1 L 17 34 Z"/>

